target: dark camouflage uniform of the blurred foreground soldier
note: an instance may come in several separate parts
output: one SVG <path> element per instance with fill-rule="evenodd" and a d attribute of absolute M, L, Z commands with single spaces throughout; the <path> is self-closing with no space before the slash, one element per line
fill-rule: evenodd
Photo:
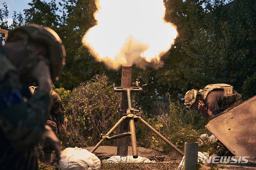
<path fill-rule="evenodd" d="M 51 98 L 44 91 L 30 95 L 28 87 L 19 82 L 16 67 L 0 49 L 1 170 L 38 169 L 35 145 L 44 131 L 50 105 Z"/>

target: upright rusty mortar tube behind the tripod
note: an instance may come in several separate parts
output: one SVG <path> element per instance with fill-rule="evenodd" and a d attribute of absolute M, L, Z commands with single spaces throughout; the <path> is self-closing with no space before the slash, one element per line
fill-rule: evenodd
<path fill-rule="evenodd" d="M 132 65 L 130 66 L 122 65 L 121 87 L 130 87 L 131 84 L 132 84 Z M 123 116 L 122 114 L 126 114 L 126 109 L 128 109 L 127 95 L 126 95 L 126 92 L 121 92 L 120 93 L 120 110 L 123 110 L 123 111 L 121 111 L 120 117 Z M 124 133 L 127 131 L 129 131 L 129 122 L 128 120 L 125 120 L 119 125 L 119 133 Z M 128 136 L 117 139 L 117 155 L 127 156 L 128 142 L 129 142 Z"/>

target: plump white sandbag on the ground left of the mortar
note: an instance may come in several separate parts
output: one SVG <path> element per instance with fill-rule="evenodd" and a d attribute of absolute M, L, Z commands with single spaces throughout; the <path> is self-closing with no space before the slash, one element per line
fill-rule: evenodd
<path fill-rule="evenodd" d="M 86 149 L 68 147 L 60 154 L 58 168 L 61 170 L 100 170 L 100 159 Z"/>

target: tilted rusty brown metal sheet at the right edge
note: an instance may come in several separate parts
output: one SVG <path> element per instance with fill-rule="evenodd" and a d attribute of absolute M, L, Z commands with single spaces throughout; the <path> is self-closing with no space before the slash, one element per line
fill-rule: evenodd
<path fill-rule="evenodd" d="M 213 117 L 205 127 L 235 156 L 255 157 L 256 96 Z"/>

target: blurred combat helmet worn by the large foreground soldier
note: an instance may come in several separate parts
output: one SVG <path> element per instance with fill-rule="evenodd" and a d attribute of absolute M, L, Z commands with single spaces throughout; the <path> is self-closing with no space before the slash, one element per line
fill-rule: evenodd
<path fill-rule="evenodd" d="M 33 42 L 40 42 L 47 46 L 48 60 L 51 71 L 52 81 L 58 80 L 62 65 L 65 65 L 66 51 L 65 47 L 58 36 L 58 34 L 49 27 L 39 26 L 35 24 L 29 24 L 25 26 L 19 26 L 9 33 L 7 42 L 21 39 L 20 34 L 25 33 L 22 39 L 25 43 L 32 40 Z"/>

